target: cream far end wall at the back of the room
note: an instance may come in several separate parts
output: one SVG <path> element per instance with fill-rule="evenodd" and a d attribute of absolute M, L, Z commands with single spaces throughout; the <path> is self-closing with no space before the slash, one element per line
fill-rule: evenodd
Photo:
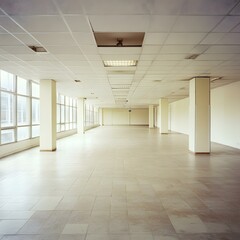
<path fill-rule="evenodd" d="M 148 108 L 104 108 L 103 125 L 148 125 Z"/>

